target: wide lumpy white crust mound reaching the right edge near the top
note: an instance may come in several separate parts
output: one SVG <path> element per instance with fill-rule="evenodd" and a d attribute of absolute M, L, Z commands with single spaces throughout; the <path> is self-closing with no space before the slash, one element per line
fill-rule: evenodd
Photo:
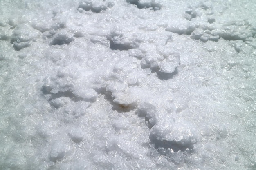
<path fill-rule="evenodd" d="M 179 23 L 171 24 L 166 31 L 180 35 L 191 35 L 192 39 L 207 41 L 224 40 L 250 41 L 255 35 L 255 27 L 246 20 L 216 20 L 216 13 L 220 12 L 207 2 L 191 5 L 184 12 L 184 18 Z M 225 11 L 225 10 L 224 10 Z M 222 13 L 223 11 L 221 11 Z"/>

